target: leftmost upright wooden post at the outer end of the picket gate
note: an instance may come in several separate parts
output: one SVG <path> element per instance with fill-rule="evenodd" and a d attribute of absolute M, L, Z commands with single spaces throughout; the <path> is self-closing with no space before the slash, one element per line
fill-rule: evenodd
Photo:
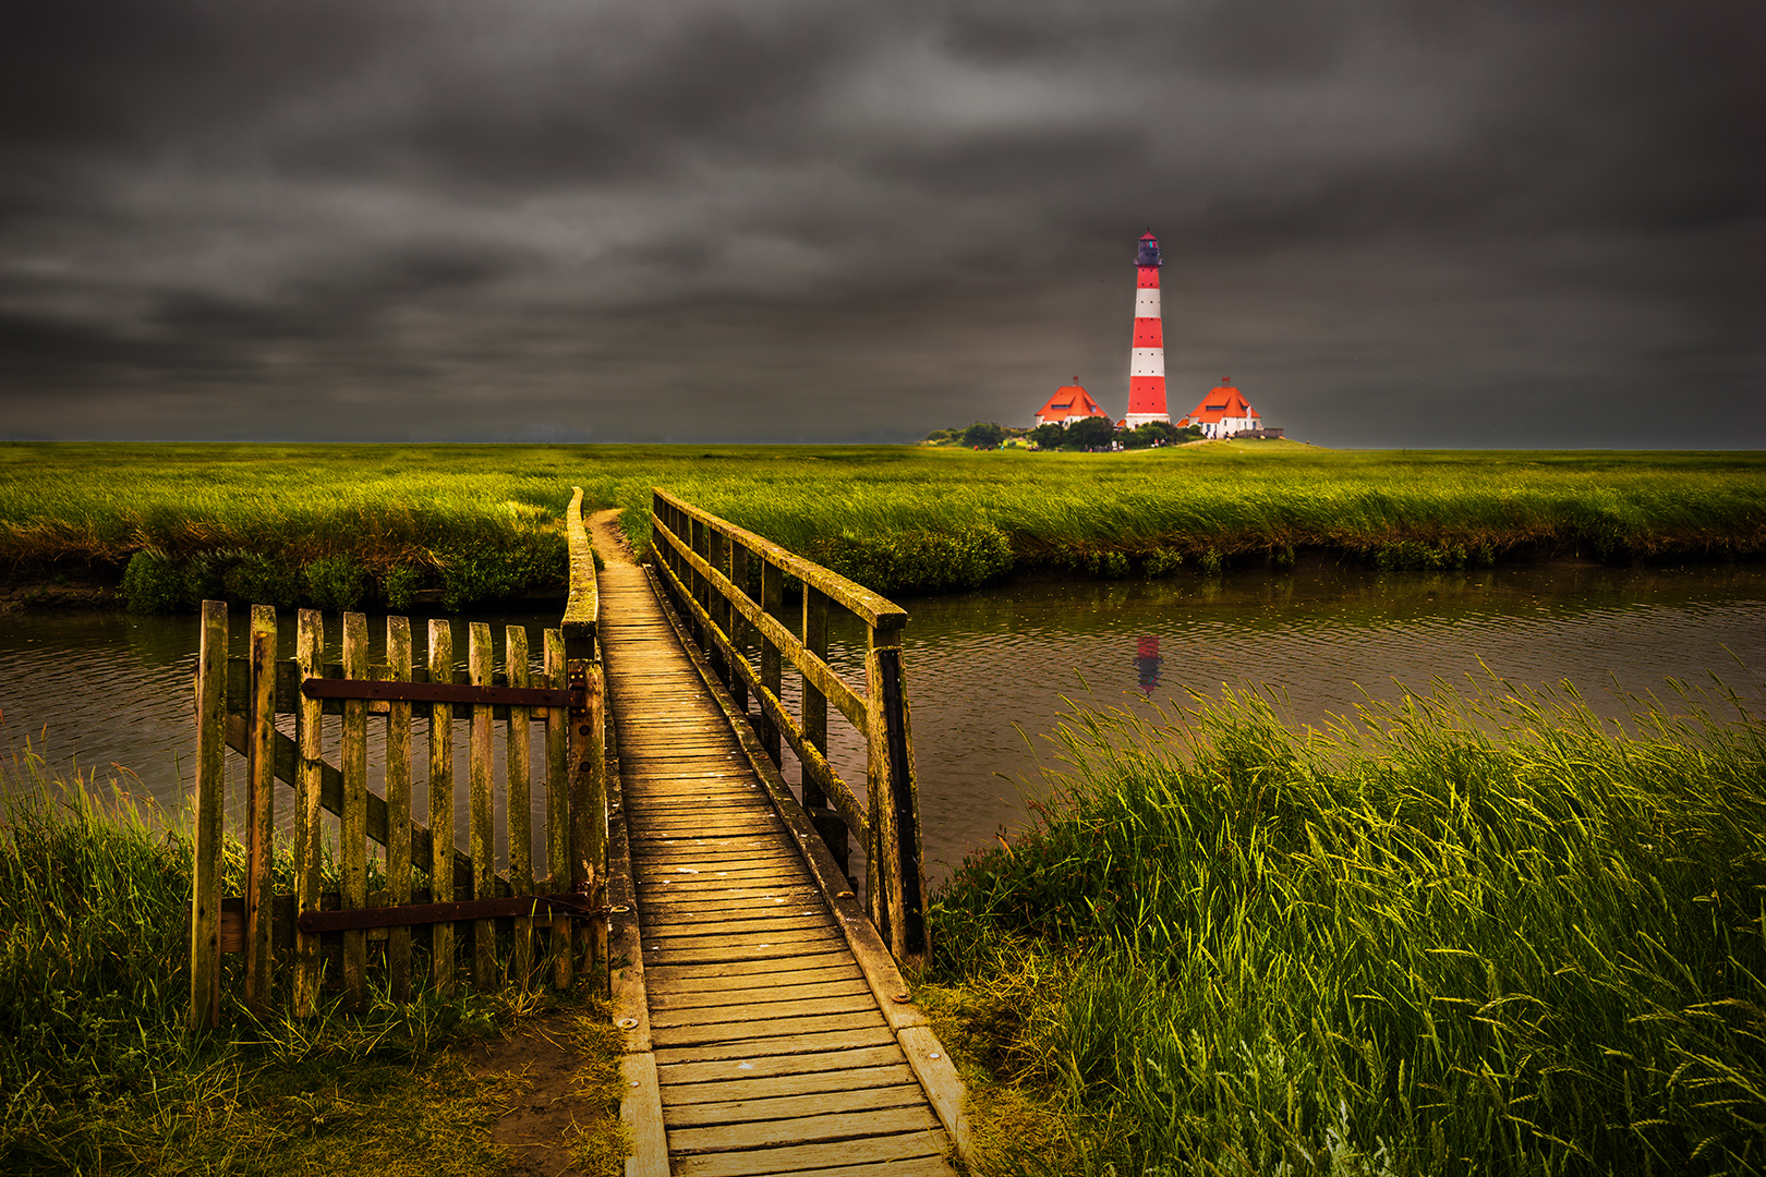
<path fill-rule="evenodd" d="M 221 1018 L 221 815 L 226 805 L 226 602 L 203 602 L 196 662 L 196 829 L 191 868 L 191 1034 Z"/>

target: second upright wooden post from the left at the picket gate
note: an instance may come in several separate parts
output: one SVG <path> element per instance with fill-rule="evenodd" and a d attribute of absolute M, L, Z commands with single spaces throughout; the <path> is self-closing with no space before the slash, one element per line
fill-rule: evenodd
<path fill-rule="evenodd" d="M 270 1008 L 275 861 L 275 607 L 251 607 L 251 711 L 245 718 L 245 1008 Z"/>

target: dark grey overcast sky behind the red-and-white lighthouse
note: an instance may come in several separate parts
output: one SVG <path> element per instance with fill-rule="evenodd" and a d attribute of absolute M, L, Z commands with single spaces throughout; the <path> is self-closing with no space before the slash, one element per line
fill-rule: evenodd
<path fill-rule="evenodd" d="M 1766 448 L 1759 0 L 7 0 L 0 438 Z"/>

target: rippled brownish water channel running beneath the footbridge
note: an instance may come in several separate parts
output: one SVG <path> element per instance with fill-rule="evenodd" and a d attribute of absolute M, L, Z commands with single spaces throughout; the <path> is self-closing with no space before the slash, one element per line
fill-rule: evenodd
<path fill-rule="evenodd" d="M 1517 686 L 1568 679 L 1609 715 L 1623 713 L 1623 692 L 1664 693 L 1669 679 L 1709 688 L 1715 674 L 1752 711 L 1766 711 L 1766 568 L 1757 565 L 1469 574 L 1326 566 L 1019 582 L 901 603 L 911 618 L 906 671 L 934 879 L 998 829 L 1024 822 L 1021 785 L 1035 791 L 1038 764 L 1051 762 L 1045 736 L 1067 699 L 1173 708 L 1189 704 L 1190 690 L 1266 685 L 1291 723 L 1319 723 L 1367 697 L 1390 699 L 1400 685 L 1464 683 L 1485 678 L 1487 667 Z M 503 625 L 528 625 L 539 649 L 539 630 L 558 614 L 457 618 L 461 651 L 459 621 L 468 619 L 493 621 L 498 639 Z M 244 621 L 235 614 L 237 630 Z M 283 628 L 290 655 L 291 616 Z M 411 628 L 422 658 L 424 626 Z M 383 637 L 378 618 L 369 632 Z M 830 660 L 860 681 L 860 635 L 830 639 Z M 102 780 L 117 766 L 127 785 L 180 808 L 192 773 L 196 641 L 191 616 L 0 616 L 5 753 L 28 746 L 62 776 L 78 766 Z M 835 766 L 862 782 L 857 741 L 830 727 Z M 459 836 L 464 842 L 464 828 Z"/>

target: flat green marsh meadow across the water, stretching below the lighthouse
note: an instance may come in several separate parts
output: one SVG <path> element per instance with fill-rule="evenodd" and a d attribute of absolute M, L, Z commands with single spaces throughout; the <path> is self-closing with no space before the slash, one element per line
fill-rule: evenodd
<path fill-rule="evenodd" d="M 1383 568 L 1766 554 L 1759 454 L 11 443 L 0 563 L 115 579 L 134 563 L 141 607 L 434 591 L 457 609 L 562 582 L 570 485 L 625 508 L 639 549 L 664 485 L 887 593 L 1307 552 Z"/>

